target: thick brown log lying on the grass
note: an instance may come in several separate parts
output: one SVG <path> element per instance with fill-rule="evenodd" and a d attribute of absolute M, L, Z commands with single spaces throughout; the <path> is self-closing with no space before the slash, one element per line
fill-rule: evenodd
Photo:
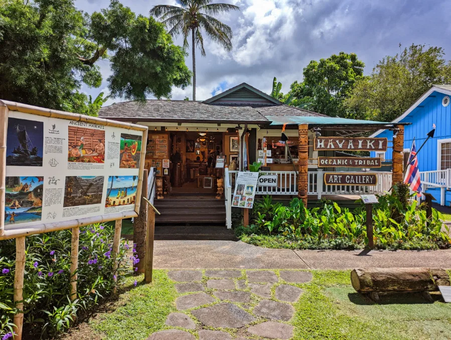
<path fill-rule="evenodd" d="M 449 286 L 449 276 L 439 268 L 365 268 L 351 272 L 351 283 L 359 293 L 421 292 Z"/>

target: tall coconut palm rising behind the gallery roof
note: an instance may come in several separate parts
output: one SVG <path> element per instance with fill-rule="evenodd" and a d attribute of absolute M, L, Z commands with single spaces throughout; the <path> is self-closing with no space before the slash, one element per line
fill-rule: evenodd
<path fill-rule="evenodd" d="M 232 29 L 213 18 L 214 15 L 231 10 L 238 11 L 238 6 L 229 4 L 211 4 L 213 0 L 176 0 L 181 7 L 157 5 L 150 14 L 162 20 L 170 27 L 169 33 L 176 37 L 183 36 L 183 47 L 188 48 L 188 35 L 191 33 L 191 48 L 193 50 L 193 100 L 196 100 L 196 46 L 205 57 L 204 38 L 201 29 L 214 42 L 221 45 L 227 52 L 232 50 Z"/>

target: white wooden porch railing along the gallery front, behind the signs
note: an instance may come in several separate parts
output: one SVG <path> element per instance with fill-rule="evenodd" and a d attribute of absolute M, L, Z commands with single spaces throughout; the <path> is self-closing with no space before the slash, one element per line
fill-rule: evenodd
<path fill-rule="evenodd" d="M 297 195 L 297 174 L 294 171 L 260 171 L 266 175 L 277 176 L 276 187 L 258 186 L 257 195 Z M 235 186 L 235 179 L 238 171 L 228 171 L 230 183 Z M 346 172 L 344 172 L 346 173 Z M 391 188 L 391 172 L 370 171 L 377 176 L 377 185 L 324 185 L 324 171 L 309 171 L 308 194 L 317 195 L 321 199 L 322 195 L 361 195 L 361 194 L 383 194 Z"/>

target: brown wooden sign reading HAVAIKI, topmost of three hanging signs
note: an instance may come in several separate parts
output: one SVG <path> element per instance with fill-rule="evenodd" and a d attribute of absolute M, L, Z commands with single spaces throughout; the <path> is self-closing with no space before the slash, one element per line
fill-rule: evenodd
<path fill-rule="evenodd" d="M 386 151 L 386 138 L 315 137 L 314 150 Z"/>

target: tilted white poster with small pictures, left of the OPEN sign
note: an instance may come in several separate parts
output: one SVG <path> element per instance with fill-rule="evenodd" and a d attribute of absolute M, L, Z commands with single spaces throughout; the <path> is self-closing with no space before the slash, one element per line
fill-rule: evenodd
<path fill-rule="evenodd" d="M 252 209 L 257 190 L 258 172 L 240 171 L 236 178 L 232 206 Z"/>

